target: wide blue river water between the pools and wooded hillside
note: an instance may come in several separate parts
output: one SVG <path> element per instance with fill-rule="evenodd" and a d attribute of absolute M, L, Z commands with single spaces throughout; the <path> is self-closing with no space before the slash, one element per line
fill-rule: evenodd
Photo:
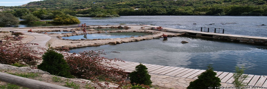
<path fill-rule="evenodd" d="M 207 27 L 211 31 L 214 28 L 225 29 L 225 34 L 267 37 L 267 16 L 121 16 L 119 18 L 79 17 L 78 19 L 87 25 L 142 24 L 194 31 L 200 31 L 201 27 Z M 262 26 L 262 24 L 266 26 Z M 19 27 L 66 25 L 68 24 L 30 24 Z"/>

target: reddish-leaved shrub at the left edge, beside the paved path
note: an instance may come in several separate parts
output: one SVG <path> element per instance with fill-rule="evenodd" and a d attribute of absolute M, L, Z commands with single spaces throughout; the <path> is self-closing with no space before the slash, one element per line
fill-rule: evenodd
<path fill-rule="evenodd" d="M 37 47 L 36 49 L 31 45 L 38 45 L 35 43 L 23 43 L 20 39 L 14 39 L 11 36 L 4 36 L 6 40 L 3 44 L 0 44 L 0 63 L 11 65 L 14 63 L 21 63 L 34 68 L 37 65 L 37 61 L 41 60 L 42 52 L 44 48 Z"/>

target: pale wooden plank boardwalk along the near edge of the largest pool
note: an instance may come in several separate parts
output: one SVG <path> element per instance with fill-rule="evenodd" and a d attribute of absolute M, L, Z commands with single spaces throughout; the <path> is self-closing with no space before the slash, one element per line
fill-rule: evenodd
<path fill-rule="evenodd" d="M 113 65 L 115 68 L 124 69 L 126 72 L 131 72 L 135 70 L 135 66 L 139 65 L 139 63 L 136 62 L 112 62 L 117 65 Z M 146 64 L 142 63 L 144 66 L 146 66 L 148 69 L 147 71 L 152 74 L 162 74 L 162 75 L 168 75 L 168 76 L 176 76 L 176 77 L 185 77 L 185 78 L 193 78 L 197 79 L 198 75 L 206 70 L 200 70 L 200 69 L 188 69 L 188 68 L 180 68 L 180 67 L 171 67 L 171 66 L 161 66 L 161 65 L 152 65 L 152 64 Z M 221 79 L 221 82 L 225 83 L 233 83 L 233 73 L 230 72 L 222 72 L 222 71 L 215 71 L 217 73 L 216 77 L 219 77 Z M 243 82 L 247 82 L 249 86 L 256 86 L 256 87 L 263 87 L 267 88 L 267 76 L 263 75 L 251 75 L 246 74 L 249 76 L 246 80 L 243 80 Z"/>

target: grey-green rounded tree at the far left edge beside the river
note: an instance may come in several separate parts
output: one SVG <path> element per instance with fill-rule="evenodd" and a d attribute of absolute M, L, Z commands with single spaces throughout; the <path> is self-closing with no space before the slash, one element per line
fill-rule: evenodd
<path fill-rule="evenodd" d="M 12 25 L 16 26 L 19 23 L 19 18 L 16 18 L 11 13 L 0 12 L 0 25 Z"/>

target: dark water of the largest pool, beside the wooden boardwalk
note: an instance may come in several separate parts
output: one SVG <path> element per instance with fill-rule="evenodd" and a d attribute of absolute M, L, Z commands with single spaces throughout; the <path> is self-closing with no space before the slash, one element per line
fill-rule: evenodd
<path fill-rule="evenodd" d="M 182 44 L 186 40 L 189 43 Z M 85 50 L 117 51 L 103 55 L 124 61 L 149 63 L 191 69 L 207 69 L 213 64 L 215 71 L 235 72 L 235 66 L 244 65 L 245 74 L 267 75 L 266 46 L 232 42 L 212 41 L 193 37 L 171 37 L 117 45 L 102 45 L 71 50 L 78 53 Z"/>

